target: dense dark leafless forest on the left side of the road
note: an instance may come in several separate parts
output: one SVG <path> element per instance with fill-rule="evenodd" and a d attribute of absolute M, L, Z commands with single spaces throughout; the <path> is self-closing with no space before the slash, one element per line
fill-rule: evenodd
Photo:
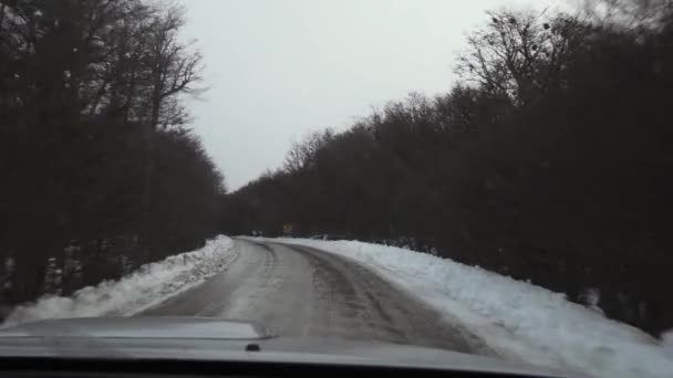
<path fill-rule="evenodd" d="M 0 305 L 70 294 L 218 232 L 224 179 L 189 128 L 184 10 L 0 1 Z"/>

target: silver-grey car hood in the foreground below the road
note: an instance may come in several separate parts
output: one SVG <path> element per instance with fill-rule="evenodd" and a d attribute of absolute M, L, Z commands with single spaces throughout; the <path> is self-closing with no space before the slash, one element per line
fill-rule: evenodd
<path fill-rule="evenodd" d="M 194 317 L 69 318 L 3 327 L 0 328 L 0 358 L 10 356 L 338 364 L 567 376 L 443 349 L 365 340 L 277 337 L 250 322 Z"/>

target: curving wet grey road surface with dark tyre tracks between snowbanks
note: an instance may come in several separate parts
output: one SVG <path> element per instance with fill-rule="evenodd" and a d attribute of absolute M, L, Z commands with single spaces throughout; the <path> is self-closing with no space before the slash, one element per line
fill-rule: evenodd
<path fill-rule="evenodd" d="M 281 336 L 484 353 L 467 332 L 348 258 L 292 244 L 235 243 L 226 271 L 141 315 L 252 319 Z"/>

